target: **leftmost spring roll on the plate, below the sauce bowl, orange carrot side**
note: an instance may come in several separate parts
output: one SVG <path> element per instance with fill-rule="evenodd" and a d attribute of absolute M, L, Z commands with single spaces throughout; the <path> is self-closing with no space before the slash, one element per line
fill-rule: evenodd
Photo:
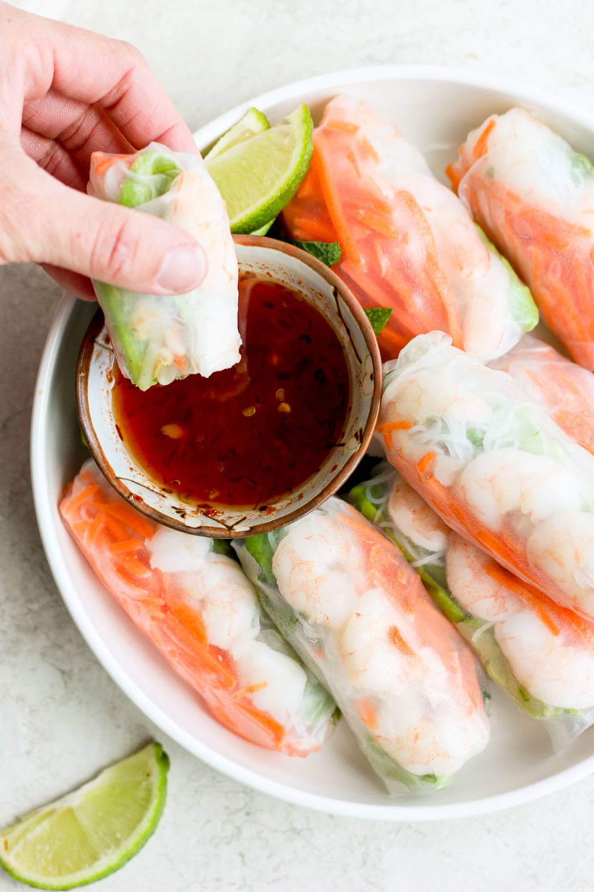
<path fill-rule="evenodd" d="M 336 705 L 259 607 L 226 542 L 142 516 L 92 459 L 60 511 L 111 597 L 220 723 L 289 756 L 321 747 Z"/>

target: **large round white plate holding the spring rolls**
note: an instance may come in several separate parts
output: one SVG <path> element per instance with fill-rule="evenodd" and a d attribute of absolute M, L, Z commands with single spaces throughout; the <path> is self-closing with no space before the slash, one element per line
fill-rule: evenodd
<path fill-rule="evenodd" d="M 314 117 L 338 92 L 376 103 L 427 154 L 435 172 L 452 161 L 469 129 L 493 111 L 532 108 L 583 153 L 594 153 L 594 120 L 566 103 L 500 78 L 417 66 L 347 71 L 281 87 L 243 103 L 202 128 L 200 148 L 250 105 L 273 121 L 308 103 Z M 58 515 L 64 485 L 84 458 L 78 437 L 74 370 L 93 305 L 65 298 L 39 369 L 31 434 L 37 519 L 53 576 L 94 654 L 136 706 L 191 753 L 236 780 L 298 805 L 389 821 L 427 821 L 495 811 L 565 787 L 594 772 L 594 728 L 557 756 L 538 723 L 494 691 L 492 741 L 460 771 L 451 789 L 390 799 L 359 755 L 344 723 L 322 749 L 291 759 L 234 737 L 211 718 L 120 610 L 70 540 Z"/>

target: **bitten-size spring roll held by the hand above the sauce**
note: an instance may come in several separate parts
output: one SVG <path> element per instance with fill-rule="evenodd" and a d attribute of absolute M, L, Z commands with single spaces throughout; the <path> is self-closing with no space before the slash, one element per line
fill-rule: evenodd
<path fill-rule="evenodd" d="M 224 201 L 199 154 L 158 143 L 134 155 L 95 152 L 89 192 L 168 220 L 207 254 L 207 276 L 187 294 L 155 296 L 94 282 L 122 374 L 147 390 L 239 362 L 237 258 Z"/>

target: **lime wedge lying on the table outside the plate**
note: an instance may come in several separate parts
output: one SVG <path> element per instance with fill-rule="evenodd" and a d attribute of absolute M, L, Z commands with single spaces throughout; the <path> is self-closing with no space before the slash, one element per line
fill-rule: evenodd
<path fill-rule="evenodd" d="M 167 793 L 169 759 L 159 743 L 0 830 L 0 865 L 15 880 L 69 889 L 117 871 L 154 832 Z"/>

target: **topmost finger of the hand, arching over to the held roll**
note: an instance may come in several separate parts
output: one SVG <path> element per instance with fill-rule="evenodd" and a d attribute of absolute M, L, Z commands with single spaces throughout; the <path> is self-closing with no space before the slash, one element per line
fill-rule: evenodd
<path fill-rule="evenodd" d="M 134 148 L 154 141 L 175 152 L 198 151 L 183 118 L 134 46 L 37 16 L 34 24 L 28 21 L 24 40 L 39 49 L 25 72 L 27 99 L 51 87 L 101 105 Z"/>

